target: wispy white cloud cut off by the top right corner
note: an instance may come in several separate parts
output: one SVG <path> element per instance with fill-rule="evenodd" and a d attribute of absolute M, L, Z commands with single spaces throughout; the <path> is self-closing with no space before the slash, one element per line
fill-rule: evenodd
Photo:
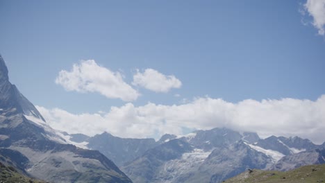
<path fill-rule="evenodd" d="M 313 26 L 318 34 L 325 35 L 325 0 L 307 0 L 304 8 L 313 17 Z"/>

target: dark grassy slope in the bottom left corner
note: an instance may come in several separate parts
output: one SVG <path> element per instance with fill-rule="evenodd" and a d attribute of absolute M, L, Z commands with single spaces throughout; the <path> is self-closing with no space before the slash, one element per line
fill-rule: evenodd
<path fill-rule="evenodd" d="M 6 166 L 0 162 L 0 182 L 21 182 L 21 183 L 45 183 L 41 180 L 35 180 L 26 177 L 16 171 L 12 166 Z"/>

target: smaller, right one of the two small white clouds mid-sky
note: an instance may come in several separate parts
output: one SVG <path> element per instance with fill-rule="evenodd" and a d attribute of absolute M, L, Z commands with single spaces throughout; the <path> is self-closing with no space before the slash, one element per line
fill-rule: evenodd
<path fill-rule="evenodd" d="M 133 85 L 150 89 L 154 92 L 169 92 L 172 88 L 180 88 L 182 82 L 175 76 L 165 76 L 154 69 L 145 69 L 143 73 L 137 70 L 133 76 Z"/>

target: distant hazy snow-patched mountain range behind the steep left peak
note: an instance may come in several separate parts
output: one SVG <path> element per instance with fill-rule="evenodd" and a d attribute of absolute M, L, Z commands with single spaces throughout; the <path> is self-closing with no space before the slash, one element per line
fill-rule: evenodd
<path fill-rule="evenodd" d="M 197 130 L 185 136 L 123 139 L 104 132 L 94 137 L 69 134 L 85 148 L 99 150 L 133 182 L 222 182 L 248 168 L 289 171 L 325 163 L 325 143 L 300 137 L 260 139 L 255 132 L 227 128 Z"/>

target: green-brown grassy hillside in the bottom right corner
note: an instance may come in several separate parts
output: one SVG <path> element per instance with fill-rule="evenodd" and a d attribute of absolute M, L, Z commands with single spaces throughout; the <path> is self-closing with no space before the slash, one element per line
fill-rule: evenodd
<path fill-rule="evenodd" d="M 253 171 L 246 171 L 224 181 L 226 183 L 294 183 L 294 182 L 325 182 L 325 164 L 302 166 L 292 171 L 261 171 L 253 169 Z"/>

